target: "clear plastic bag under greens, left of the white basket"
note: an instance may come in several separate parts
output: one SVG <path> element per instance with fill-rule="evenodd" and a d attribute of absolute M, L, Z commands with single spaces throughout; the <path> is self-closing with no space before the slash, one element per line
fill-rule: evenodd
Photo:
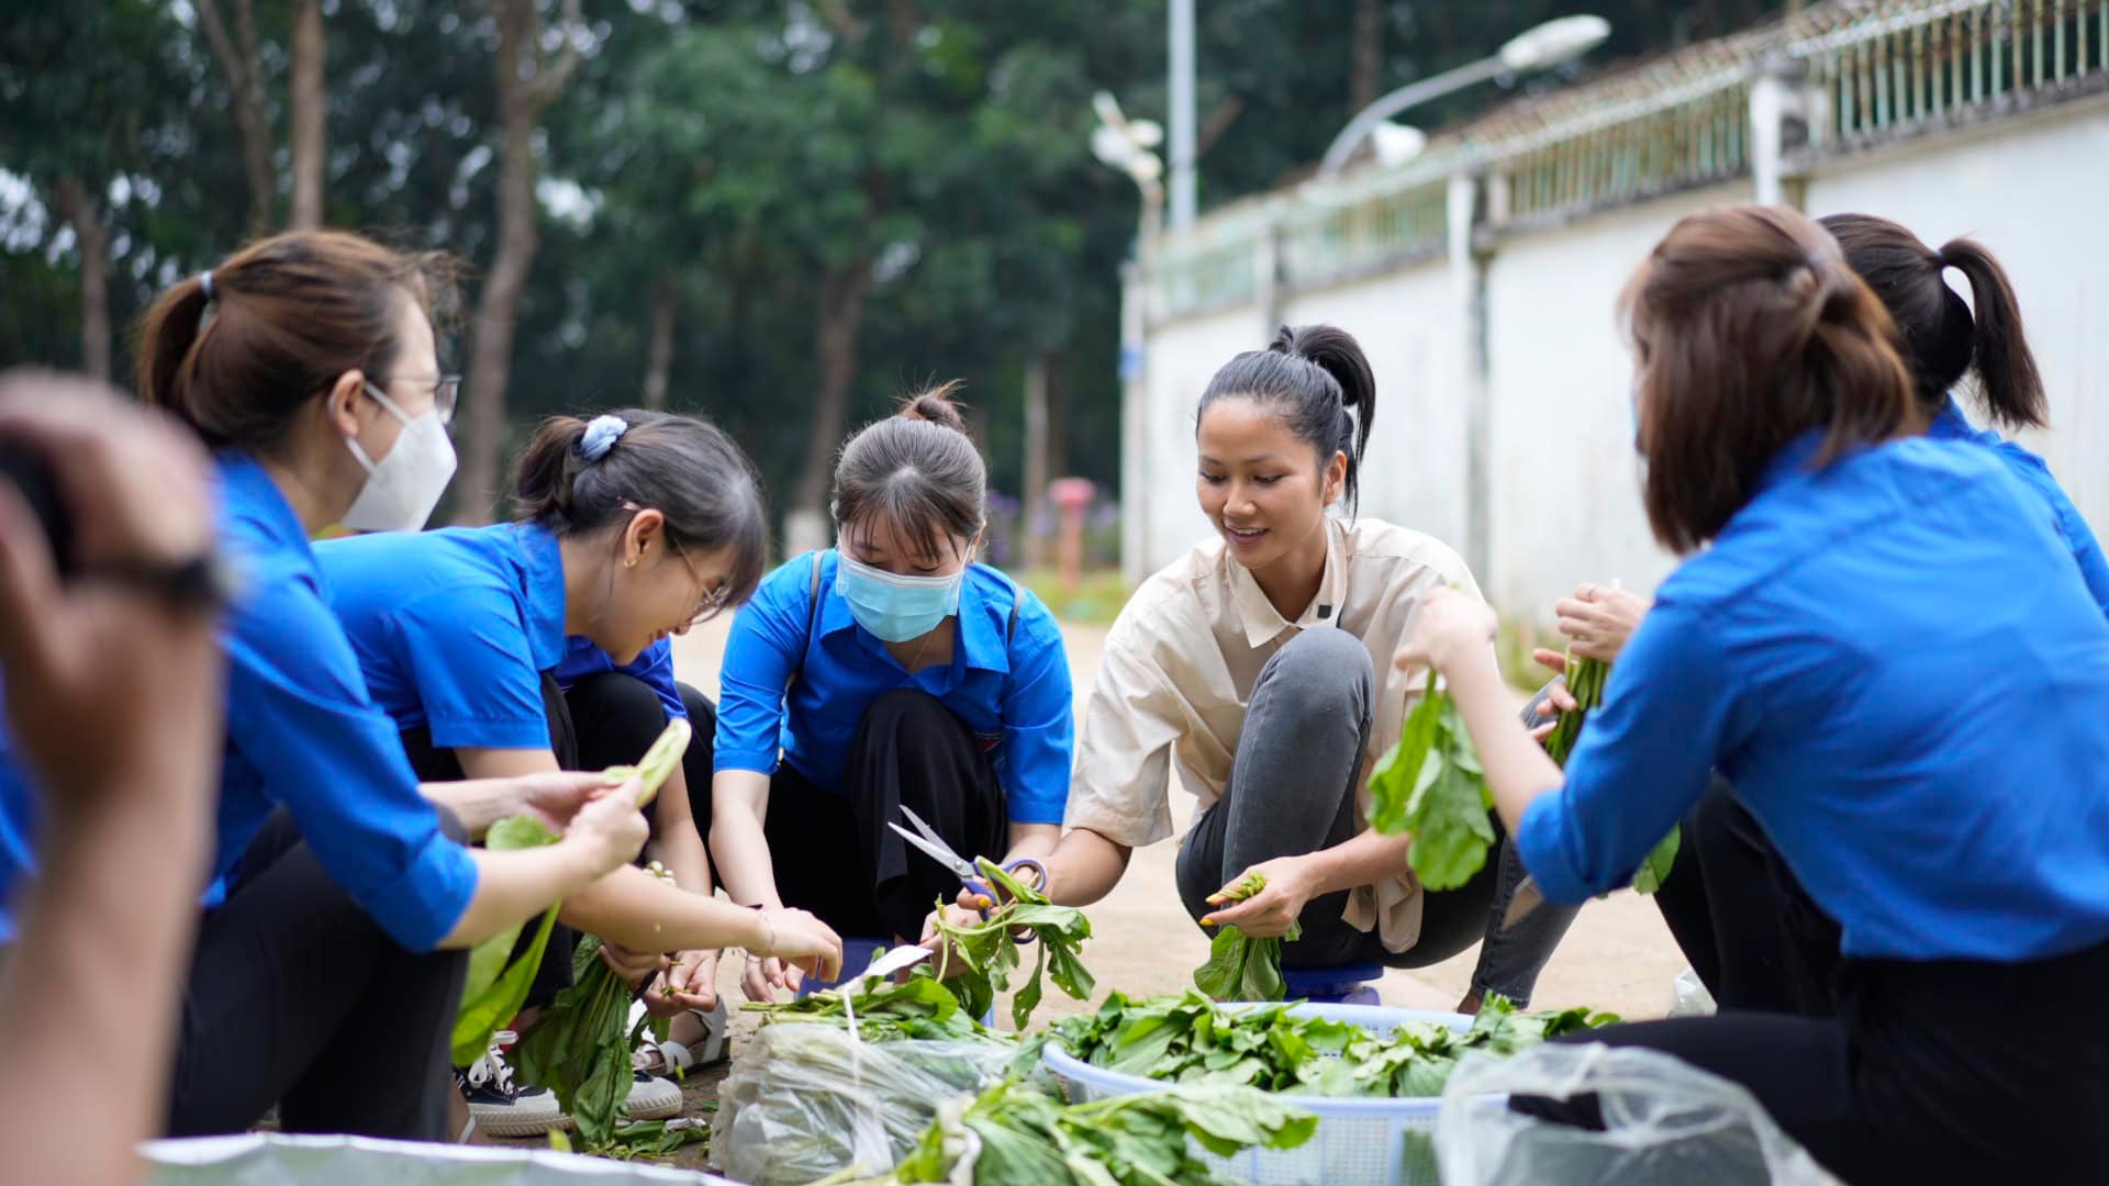
<path fill-rule="evenodd" d="M 1000 1080 L 1014 1055 L 995 1038 L 860 1042 L 837 1026 L 763 1026 L 719 1085 L 713 1165 L 761 1186 L 886 1173 L 941 1104 Z"/>

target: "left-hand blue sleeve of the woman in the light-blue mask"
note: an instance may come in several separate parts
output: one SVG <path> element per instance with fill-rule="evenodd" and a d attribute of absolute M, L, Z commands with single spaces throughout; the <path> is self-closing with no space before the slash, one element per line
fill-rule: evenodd
<path fill-rule="evenodd" d="M 732 618 L 719 667 L 717 770 L 776 772 L 785 692 L 812 618 L 812 563 L 801 555 L 780 566 Z"/>

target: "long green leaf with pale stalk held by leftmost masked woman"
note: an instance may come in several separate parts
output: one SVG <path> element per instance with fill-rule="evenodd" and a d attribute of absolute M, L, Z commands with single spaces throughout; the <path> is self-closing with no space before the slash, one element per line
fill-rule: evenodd
<path fill-rule="evenodd" d="M 669 720 L 637 766 L 610 766 L 601 777 L 610 785 L 622 785 L 635 774 L 643 785 L 643 793 L 637 800 L 637 806 L 643 808 L 658 796 L 658 789 L 673 774 L 675 766 L 681 764 L 681 755 L 688 753 L 690 732 L 692 726 L 685 720 Z M 500 819 L 483 836 L 483 846 L 491 853 L 540 848 L 555 842 L 557 836 L 529 815 Z M 521 1011 L 527 990 L 534 988 L 534 973 L 542 967 L 542 954 L 548 952 L 548 933 L 557 924 L 559 905 L 550 903 L 542 912 L 542 922 L 536 926 L 534 939 L 510 964 L 506 956 L 519 945 L 519 924 L 506 926 L 468 952 L 462 1009 L 453 1017 L 453 1066 L 468 1066 L 483 1057 L 491 1045 L 491 1034 L 502 1030 Z"/>

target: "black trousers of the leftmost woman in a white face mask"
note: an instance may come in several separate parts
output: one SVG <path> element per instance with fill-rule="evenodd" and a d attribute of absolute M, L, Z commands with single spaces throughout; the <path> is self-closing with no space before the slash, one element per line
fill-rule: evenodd
<path fill-rule="evenodd" d="M 466 842 L 445 810 L 441 825 Z M 447 1140 L 466 971 L 466 952 L 399 948 L 280 808 L 198 926 L 169 1135 L 238 1133 L 278 1104 L 293 1133 Z"/>

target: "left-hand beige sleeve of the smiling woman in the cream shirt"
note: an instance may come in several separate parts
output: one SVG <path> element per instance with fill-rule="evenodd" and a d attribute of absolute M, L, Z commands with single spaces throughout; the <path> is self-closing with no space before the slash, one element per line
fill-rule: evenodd
<path fill-rule="evenodd" d="M 1084 705 L 1065 812 L 1069 827 L 1128 848 L 1173 834 L 1173 745 L 1183 732 L 1181 699 L 1147 648 L 1145 631 L 1122 612 Z"/>

